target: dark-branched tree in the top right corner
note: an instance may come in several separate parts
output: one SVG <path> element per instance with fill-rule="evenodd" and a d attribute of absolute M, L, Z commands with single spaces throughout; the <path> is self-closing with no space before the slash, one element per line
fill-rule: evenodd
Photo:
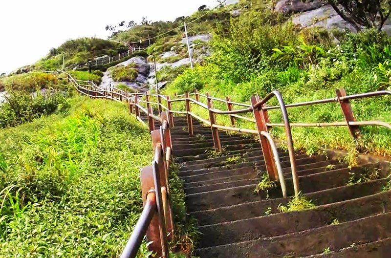
<path fill-rule="evenodd" d="M 360 31 L 361 27 L 381 30 L 390 17 L 391 0 L 328 0 L 342 19 Z"/>

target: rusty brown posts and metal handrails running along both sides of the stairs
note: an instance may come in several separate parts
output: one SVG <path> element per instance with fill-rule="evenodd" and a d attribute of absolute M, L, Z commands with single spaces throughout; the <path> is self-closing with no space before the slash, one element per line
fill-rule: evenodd
<path fill-rule="evenodd" d="M 76 87 L 76 89 L 93 98 L 108 98 L 115 101 L 126 101 L 129 104 L 130 113 L 134 113 L 136 118 L 144 123 L 142 116 L 147 117 L 148 126 L 152 131 L 153 150 L 155 153 L 152 166 L 146 167 L 141 171 L 141 186 L 144 202 L 144 210 L 134 228 L 134 232 L 125 248 L 122 258 L 134 257 L 135 249 L 140 246 L 141 239 L 144 234 L 152 241 L 149 246 L 150 250 L 156 252 L 160 257 L 168 257 L 167 240 L 173 237 L 173 217 L 170 205 L 170 191 L 168 185 L 168 168 L 171 160 L 171 134 L 170 127 L 174 127 L 174 114 L 183 114 L 187 117 L 189 134 L 194 134 L 193 119 L 197 119 L 202 123 L 211 127 L 213 141 L 216 151 L 221 151 L 218 129 L 231 130 L 242 133 L 257 134 L 260 138 L 263 158 L 265 160 L 266 170 L 271 180 L 279 180 L 281 184 L 282 194 L 286 196 L 285 182 L 282 174 L 282 168 L 278 151 L 274 140 L 270 135 L 270 129 L 273 127 L 284 127 L 286 134 L 287 149 L 289 152 L 290 167 L 293 177 L 295 194 L 300 193 L 300 186 L 296 171 L 296 161 L 294 153 L 294 145 L 292 140 L 291 127 L 340 127 L 346 126 L 353 139 L 360 137 L 360 126 L 380 126 L 391 129 L 391 124 L 384 121 L 356 121 L 350 106 L 351 100 L 364 99 L 369 97 L 391 95 L 390 90 L 380 90 L 368 93 L 347 95 L 343 88 L 336 90 L 335 98 L 315 100 L 303 103 L 294 103 L 285 105 L 282 95 L 279 91 L 273 91 L 261 99 L 258 95 L 251 97 L 250 104 L 237 103 L 231 101 L 229 97 L 219 99 L 210 96 L 209 94 L 201 94 L 197 91 L 181 95 L 170 96 L 157 95 L 153 93 L 130 93 L 118 88 L 101 89 L 90 82 L 77 82 L 66 74 L 66 78 Z M 192 98 L 194 96 L 194 99 Z M 156 98 L 156 102 L 152 102 L 150 97 Z M 267 102 L 275 97 L 278 101 L 278 106 L 266 106 Z M 145 98 L 145 100 L 143 100 Z M 205 98 L 206 103 L 200 101 L 200 98 Z M 165 106 L 162 99 L 167 103 Z M 225 103 L 227 110 L 219 110 L 214 108 L 213 101 Z M 173 104 L 182 102 L 186 107 L 185 110 L 175 110 Z M 320 105 L 326 103 L 338 102 L 341 107 L 341 112 L 345 117 L 345 122 L 333 123 L 290 123 L 288 118 L 287 108 L 304 107 L 310 105 Z M 146 108 L 142 106 L 146 104 Z M 208 110 L 209 118 L 204 119 L 192 112 L 192 105 L 197 105 Z M 159 112 L 160 116 L 153 114 L 152 106 L 156 110 L 166 110 Z M 239 107 L 239 108 L 235 108 Z M 283 123 L 271 123 L 268 115 L 268 110 L 280 109 Z M 243 113 L 252 113 L 254 119 L 243 116 Z M 217 125 L 216 115 L 229 115 L 231 127 Z M 237 119 L 249 121 L 256 124 L 256 129 L 237 128 Z M 154 121 L 160 121 L 162 126 L 155 130 Z M 160 191 L 156 191 L 159 190 Z M 145 233 L 146 232 L 146 233 Z M 134 236 L 133 236 L 134 235 Z M 138 250 L 138 249 L 137 249 Z"/>

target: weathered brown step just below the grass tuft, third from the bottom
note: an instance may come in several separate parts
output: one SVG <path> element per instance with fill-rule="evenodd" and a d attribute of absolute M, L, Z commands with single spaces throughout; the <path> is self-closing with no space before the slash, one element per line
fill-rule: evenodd
<path fill-rule="evenodd" d="M 274 214 L 198 227 L 201 247 L 276 237 L 371 215 L 391 212 L 391 192 L 373 194 L 343 202 L 317 206 L 311 210 Z"/>

